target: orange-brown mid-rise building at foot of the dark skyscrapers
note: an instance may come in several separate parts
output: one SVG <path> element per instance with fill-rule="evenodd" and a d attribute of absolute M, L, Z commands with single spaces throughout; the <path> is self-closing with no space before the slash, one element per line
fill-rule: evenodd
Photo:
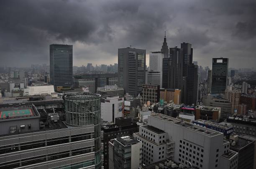
<path fill-rule="evenodd" d="M 181 104 L 181 90 L 179 89 L 160 89 L 160 99 L 164 102 Z"/>

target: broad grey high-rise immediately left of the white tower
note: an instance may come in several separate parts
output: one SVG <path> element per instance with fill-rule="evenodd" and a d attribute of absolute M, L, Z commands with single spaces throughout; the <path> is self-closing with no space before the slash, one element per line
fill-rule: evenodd
<path fill-rule="evenodd" d="M 136 97 L 146 82 L 146 50 L 131 47 L 118 49 L 118 86 Z"/>

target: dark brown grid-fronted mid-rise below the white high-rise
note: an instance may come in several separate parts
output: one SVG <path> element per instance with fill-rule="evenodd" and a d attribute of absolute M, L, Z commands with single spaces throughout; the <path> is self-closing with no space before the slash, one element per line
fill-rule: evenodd
<path fill-rule="evenodd" d="M 142 85 L 141 105 L 158 103 L 160 100 L 160 86 L 159 85 Z"/>

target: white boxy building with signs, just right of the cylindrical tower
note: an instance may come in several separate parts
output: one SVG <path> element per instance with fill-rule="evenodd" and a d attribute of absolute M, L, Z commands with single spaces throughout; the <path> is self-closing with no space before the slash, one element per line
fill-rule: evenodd
<path fill-rule="evenodd" d="M 123 117 L 123 97 L 114 96 L 101 99 L 101 118 L 115 123 L 116 117 Z"/>

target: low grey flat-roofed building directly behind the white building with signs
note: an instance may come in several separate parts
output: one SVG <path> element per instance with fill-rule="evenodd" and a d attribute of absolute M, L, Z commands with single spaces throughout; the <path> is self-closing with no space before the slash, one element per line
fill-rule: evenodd
<path fill-rule="evenodd" d="M 102 98 L 124 96 L 123 87 L 118 87 L 117 85 L 106 85 L 104 87 L 98 87 L 97 94 L 100 94 Z"/>

